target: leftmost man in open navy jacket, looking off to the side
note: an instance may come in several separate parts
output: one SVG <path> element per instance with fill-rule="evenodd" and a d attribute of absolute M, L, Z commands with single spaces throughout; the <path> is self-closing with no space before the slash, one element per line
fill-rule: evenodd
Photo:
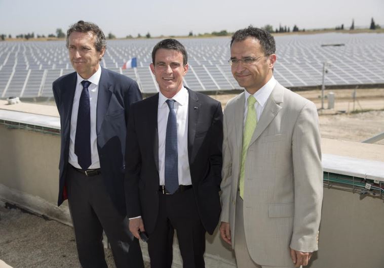
<path fill-rule="evenodd" d="M 117 267 L 143 267 L 123 191 L 126 122 L 141 93 L 132 79 L 100 67 L 106 42 L 97 25 L 73 24 L 66 47 L 76 72 L 53 82 L 61 123 L 58 205 L 68 198 L 83 267 L 107 267 L 103 229 Z"/>

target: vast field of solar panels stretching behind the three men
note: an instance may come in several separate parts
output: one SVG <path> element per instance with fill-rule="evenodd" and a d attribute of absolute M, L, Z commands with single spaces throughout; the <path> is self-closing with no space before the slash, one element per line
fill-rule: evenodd
<path fill-rule="evenodd" d="M 326 85 L 384 83 L 384 34 L 324 33 L 276 36 L 275 78 L 286 87 L 318 86 L 328 62 Z M 229 37 L 179 39 L 187 49 L 184 84 L 195 91 L 239 89 L 227 60 Z M 109 40 L 101 66 L 136 80 L 143 93 L 158 85 L 149 69 L 159 39 Z M 322 44 L 343 43 L 344 46 Z M 136 57 L 138 66 L 122 70 Z M 0 98 L 52 97 L 52 82 L 73 72 L 64 41 L 0 42 Z"/>

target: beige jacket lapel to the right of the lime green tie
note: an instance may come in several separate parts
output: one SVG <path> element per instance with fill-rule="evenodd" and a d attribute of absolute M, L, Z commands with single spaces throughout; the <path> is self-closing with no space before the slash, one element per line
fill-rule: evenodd
<path fill-rule="evenodd" d="M 281 110 L 280 104 L 283 102 L 283 87 L 277 83 L 274 87 L 271 96 L 266 101 L 264 110 L 257 122 L 255 132 L 253 133 L 252 139 L 249 143 L 251 146 L 256 139 L 261 135 L 265 128 L 272 122 L 275 116 Z"/>

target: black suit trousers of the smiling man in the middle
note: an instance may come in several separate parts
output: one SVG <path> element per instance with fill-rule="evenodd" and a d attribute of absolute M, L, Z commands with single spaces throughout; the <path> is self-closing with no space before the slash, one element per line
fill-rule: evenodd
<path fill-rule="evenodd" d="M 192 188 L 173 195 L 159 192 L 159 214 L 155 230 L 149 234 L 148 240 L 151 268 L 171 268 L 175 230 L 183 268 L 204 268 L 206 231 Z"/>

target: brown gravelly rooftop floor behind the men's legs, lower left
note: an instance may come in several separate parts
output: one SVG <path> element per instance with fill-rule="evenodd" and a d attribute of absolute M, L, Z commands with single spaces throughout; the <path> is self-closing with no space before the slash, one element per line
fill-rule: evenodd
<path fill-rule="evenodd" d="M 116 267 L 104 249 L 108 267 Z M 79 267 L 73 229 L 0 201 L 0 260 L 14 268 Z M 149 267 L 146 263 L 145 267 Z M 3 268 L 0 262 L 0 268 Z"/>

